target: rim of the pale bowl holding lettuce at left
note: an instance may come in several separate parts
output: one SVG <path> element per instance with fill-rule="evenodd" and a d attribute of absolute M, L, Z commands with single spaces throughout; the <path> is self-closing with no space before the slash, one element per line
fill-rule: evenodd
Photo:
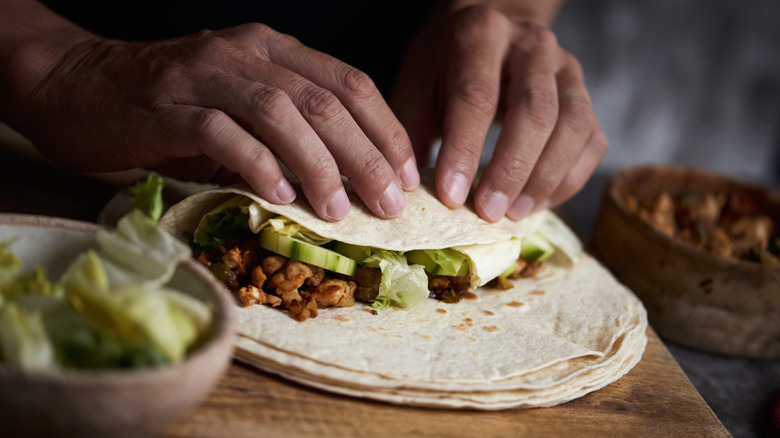
<path fill-rule="evenodd" d="M 88 234 L 94 234 L 100 229 L 107 229 L 106 227 L 98 224 L 75 219 L 16 213 L 0 213 L 0 225 L 62 228 Z M 196 275 L 198 275 L 198 277 L 200 277 L 200 279 L 203 280 L 208 286 L 208 294 L 216 304 L 216 322 L 219 324 L 213 330 L 209 339 L 191 354 L 187 355 L 184 360 L 175 364 L 148 368 L 62 368 L 56 371 L 24 371 L 8 367 L 0 362 L 0 375 L 14 375 L 17 377 L 49 382 L 67 380 L 68 382 L 72 383 L 94 383 L 105 380 L 121 381 L 154 379 L 164 374 L 178 373 L 180 370 L 187 367 L 189 363 L 200 360 L 202 357 L 212 353 L 215 349 L 224 343 L 230 344 L 229 350 L 232 351 L 233 338 L 235 336 L 234 325 L 236 319 L 235 304 L 232 301 L 232 297 L 229 293 L 227 293 L 224 285 L 222 285 L 219 280 L 211 275 L 208 269 L 206 269 L 203 265 L 193 259 L 187 259 L 181 263 L 186 266 L 186 269 L 193 270 Z M 226 362 L 230 361 L 232 353 L 229 354 L 229 356 L 230 357 L 226 359 Z"/>

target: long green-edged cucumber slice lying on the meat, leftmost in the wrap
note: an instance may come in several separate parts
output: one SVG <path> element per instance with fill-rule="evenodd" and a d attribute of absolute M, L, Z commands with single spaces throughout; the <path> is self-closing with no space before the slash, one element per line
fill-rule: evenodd
<path fill-rule="evenodd" d="M 261 247 L 285 257 L 340 274 L 352 276 L 357 267 L 357 262 L 347 256 L 279 234 L 270 229 L 260 232 L 259 244 Z"/>

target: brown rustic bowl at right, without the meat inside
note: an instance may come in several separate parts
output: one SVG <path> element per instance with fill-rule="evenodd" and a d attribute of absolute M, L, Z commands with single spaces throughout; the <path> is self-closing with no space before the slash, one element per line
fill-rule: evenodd
<path fill-rule="evenodd" d="M 667 191 L 739 188 L 780 223 L 780 196 L 713 172 L 650 165 L 614 174 L 593 230 L 593 250 L 644 302 L 654 329 L 668 341 L 729 356 L 780 357 L 780 267 L 717 256 L 668 237 L 629 211 Z"/>

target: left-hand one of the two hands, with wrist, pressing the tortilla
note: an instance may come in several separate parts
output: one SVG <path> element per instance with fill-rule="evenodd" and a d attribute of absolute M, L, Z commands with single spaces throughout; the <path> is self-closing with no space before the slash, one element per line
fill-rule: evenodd
<path fill-rule="evenodd" d="M 235 172 L 287 203 L 295 191 L 278 158 L 326 220 L 350 208 L 340 174 L 380 217 L 400 214 L 402 189 L 419 183 L 408 136 L 372 81 L 292 37 L 260 24 L 155 43 L 86 35 L 40 80 L 22 78 L 6 115 L 67 166 L 184 164 L 201 181 Z"/>

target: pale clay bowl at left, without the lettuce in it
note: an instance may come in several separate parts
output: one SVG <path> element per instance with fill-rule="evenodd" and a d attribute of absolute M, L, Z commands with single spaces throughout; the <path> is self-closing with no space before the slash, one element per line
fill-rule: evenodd
<path fill-rule="evenodd" d="M 98 226 L 66 219 L 0 214 L 0 241 L 16 236 L 24 270 L 38 265 L 59 278 L 93 247 Z M 210 338 L 179 364 L 146 370 L 22 372 L 0 363 L 3 436 L 141 437 L 159 432 L 202 399 L 230 362 L 234 304 L 197 262 L 179 265 L 169 285 L 210 302 Z"/>

